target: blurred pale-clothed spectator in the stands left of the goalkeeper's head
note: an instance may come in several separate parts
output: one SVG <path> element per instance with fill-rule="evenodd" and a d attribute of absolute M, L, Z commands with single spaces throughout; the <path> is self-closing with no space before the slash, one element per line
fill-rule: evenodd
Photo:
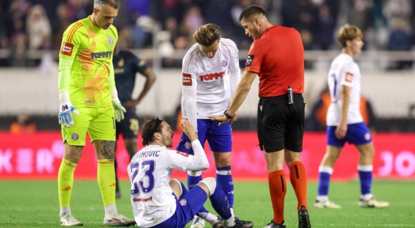
<path fill-rule="evenodd" d="M 26 21 L 30 49 L 49 49 L 52 28 L 41 5 L 30 8 Z"/>

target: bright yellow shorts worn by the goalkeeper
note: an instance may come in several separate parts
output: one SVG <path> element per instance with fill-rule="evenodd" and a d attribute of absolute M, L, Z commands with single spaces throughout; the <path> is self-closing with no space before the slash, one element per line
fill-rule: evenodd
<path fill-rule="evenodd" d="M 62 140 L 72 146 L 84 146 L 86 133 L 95 140 L 116 141 L 116 120 L 113 106 L 104 108 L 77 108 L 80 115 L 72 113 L 73 126 L 62 126 Z"/>

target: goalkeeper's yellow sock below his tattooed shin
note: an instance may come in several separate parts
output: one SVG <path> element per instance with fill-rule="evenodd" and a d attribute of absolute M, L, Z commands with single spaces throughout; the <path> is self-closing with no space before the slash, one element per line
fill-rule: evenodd
<path fill-rule="evenodd" d="M 98 160 L 98 185 L 104 206 L 116 204 L 116 171 L 113 159 Z"/>

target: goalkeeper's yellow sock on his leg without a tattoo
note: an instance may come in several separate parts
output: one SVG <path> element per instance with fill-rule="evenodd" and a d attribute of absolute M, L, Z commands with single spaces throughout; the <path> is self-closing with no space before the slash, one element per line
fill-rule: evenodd
<path fill-rule="evenodd" d="M 73 187 L 73 173 L 76 169 L 76 163 L 62 158 L 57 174 L 57 189 L 59 194 L 59 206 L 69 207 L 71 202 L 71 193 Z"/>

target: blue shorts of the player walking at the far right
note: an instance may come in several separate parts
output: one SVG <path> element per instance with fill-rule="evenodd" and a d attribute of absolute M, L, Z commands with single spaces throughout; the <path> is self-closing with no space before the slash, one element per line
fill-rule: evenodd
<path fill-rule="evenodd" d="M 344 146 L 345 142 L 362 145 L 372 141 L 370 131 L 364 122 L 347 124 L 346 136 L 341 140 L 335 137 L 336 128 L 337 126 L 327 126 L 327 144 L 329 146 Z"/>

